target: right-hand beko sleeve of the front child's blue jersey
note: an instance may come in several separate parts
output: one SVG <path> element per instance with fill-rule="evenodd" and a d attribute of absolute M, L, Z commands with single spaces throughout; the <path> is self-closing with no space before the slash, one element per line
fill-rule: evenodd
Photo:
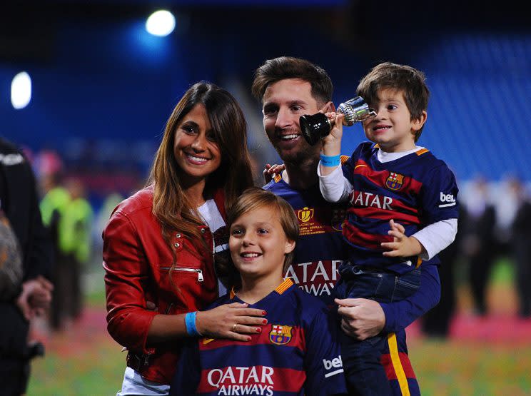
<path fill-rule="evenodd" d="M 338 325 L 329 310 L 315 315 L 306 330 L 305 395 L 346 394 Z"/>

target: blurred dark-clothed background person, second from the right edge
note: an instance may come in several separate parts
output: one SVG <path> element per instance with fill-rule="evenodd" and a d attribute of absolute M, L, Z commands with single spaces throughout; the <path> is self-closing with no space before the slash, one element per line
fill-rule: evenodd
<path fill-rule="evenodd" d="M 487 313 L 486 289 L 492 264 L 498 255 L 495 238 L 496 211 L 489 195 L 485 178 L 478 176 L 472 182 L 463 201 L 464 218 L 461 221 L 460 238 L 462 253 L 468 262 L 468 277 L 475 313 Z"/>

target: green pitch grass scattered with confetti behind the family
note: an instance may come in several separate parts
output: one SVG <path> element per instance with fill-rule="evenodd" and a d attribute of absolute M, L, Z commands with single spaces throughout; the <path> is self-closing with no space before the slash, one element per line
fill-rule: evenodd
<path fill-rule="evenodd" d="M 500 260 L 492 283 L 510 288 L 512 280 L 512 263 Z M 103 308 L 103 282 L 95 284 L 86 303 Z M 409 345 L 423 396 L 531 395 L 531 340 L 515 347 L 414 338 Z M 104 330 L 56 336 L 32 365 L 27 395 L 116 395 L 125 368 L 120 349 Z"/>

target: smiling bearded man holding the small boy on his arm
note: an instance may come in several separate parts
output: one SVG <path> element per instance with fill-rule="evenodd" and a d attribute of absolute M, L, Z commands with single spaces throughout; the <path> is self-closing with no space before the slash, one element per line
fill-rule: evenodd
<path fill-rule="evenodd" d="M 288 200 L 299 219 L 295 260 L 287 276 L 330 303 L 338 278 L 336 270 L 345 257 L 341 235 L 345 208 L 322 198 L 317 174 L 321 145 L 310 146 L 305 141 L 299 117 L 335 111 L 332 82 L 322 68 L 282 56 L 265 61 L 256 70 L 252 90 L 263 104 L 265 133 L 285 166 L 264 188 Z M 420 395 L 404 329 L 433 308 L 439 296 L 437 268 L 427 265 L 423 267 L 420 289 L 411 298 L 389 304 L 362 298 L 341 301 L 343 307 L 338 313 L 342 328 L 351 337 L 365 340 L 382 330 L 393 332 L 383 350 L 382 363 L 395 395 Z"/>

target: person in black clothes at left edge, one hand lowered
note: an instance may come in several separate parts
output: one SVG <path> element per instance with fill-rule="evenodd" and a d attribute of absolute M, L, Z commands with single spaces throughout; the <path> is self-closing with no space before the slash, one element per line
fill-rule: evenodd
<path fill-rule="evenodd" d="M 41 221 L 31 166 L 13 144 L 0 138 L 0 209 L 11 224 L 21 252 L 22 282 L 9 300 L 0 301 L 0 393 L 23 395 L 29 360 L 39 344 L 28 340 L 30 320 L 49 308 L 53 248 Z"/>

